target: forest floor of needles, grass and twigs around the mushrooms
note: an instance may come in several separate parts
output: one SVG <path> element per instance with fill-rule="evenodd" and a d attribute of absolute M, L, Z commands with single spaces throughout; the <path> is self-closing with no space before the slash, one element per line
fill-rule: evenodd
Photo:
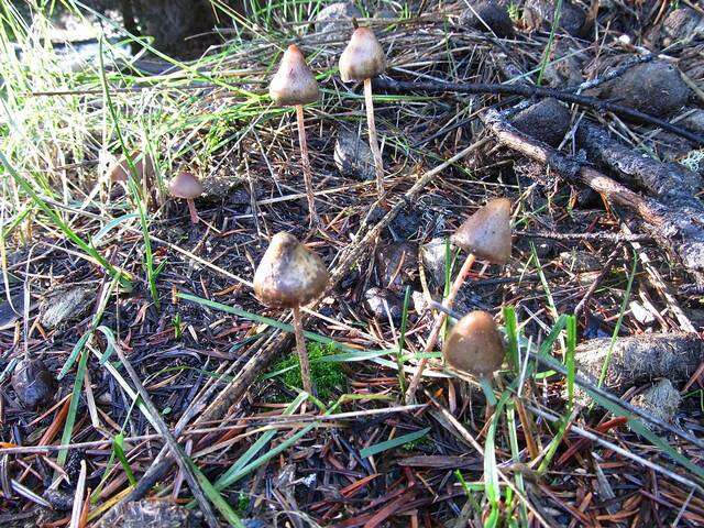
<path fill-rule="evenodd" d="M 383 199 L 338 73 L 353 26 L 314 24 L 323 6 L 213 2 L 222 44 L 189 62 L 125 56 L 110 19 L 102 58 L 74 61 L 6 6 L 0 526 L 704 525 L 704 11 L 469 3 L 486 24 L 465 2 L 356 13 L 388 58 Z M 267 95 L 294 42 L 321 89 L 318 229 Z M 113 184 L 123 153 L 151 162 Z M 197 224 L 167 194 L 185 169 Z M 474 263 L 453 307 L 505 333 L 483 391 L 424 352 L 427 299 L 496 197 L 512 257 Z M 280 231 L 331 272 L 304 309 L 316 395 L 290 316 L 253 295 Z"/>

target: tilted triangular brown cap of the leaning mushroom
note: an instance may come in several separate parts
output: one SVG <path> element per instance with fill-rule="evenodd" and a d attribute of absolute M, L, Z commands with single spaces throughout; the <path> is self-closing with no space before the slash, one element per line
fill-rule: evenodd
<path fill-rule="evenodd" d="M 479 258 L 506 264 L 510 257 L 510 200 L 491 200 L 460 226 L 452 243 Z"/>

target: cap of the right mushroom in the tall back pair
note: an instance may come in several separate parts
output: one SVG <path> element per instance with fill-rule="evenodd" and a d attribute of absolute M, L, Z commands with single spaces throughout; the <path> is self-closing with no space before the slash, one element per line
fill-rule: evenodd
<path fill-rule="evenodd" d="M 340 55 L 340 77 L 343 82 L 364 80 L 383 74 L 386 55 L 369 28 L 358 28 Z"/>

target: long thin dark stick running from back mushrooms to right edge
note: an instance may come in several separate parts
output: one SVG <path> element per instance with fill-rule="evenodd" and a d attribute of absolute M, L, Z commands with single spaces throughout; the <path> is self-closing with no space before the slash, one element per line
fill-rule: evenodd
<path fill-rule="evenodd" d="M 377 88 L 384 88 L 392 91 L 424 91 L 429 94 L 443 94 L 447 91 L 455 91 L 459 94 L 492 94 L 506 96 L 522 97 L 552 97 L 565 102 L 572 102 L 583 107 L 594 108 L 596 110 L 606 110 L 619 116 L 629 118 L 630 120 L 660 127 L 668 132 L 685 138 L 690 141 L 704 145 L 704 136 L 684 130 L 662 119 L 653 118 L 647 113 L 639 112 L 632 108 L 616 105 L 615 102 L 604 101 L 595 97 L 575 95 L 569 91 L 556 90 L 552 88 L 542 88 L 531 85 L 498 85 L 484 82 L 444 82 L 444 81 L 402 81 L 388 78 L 377 78 L 375 81 Z"/>

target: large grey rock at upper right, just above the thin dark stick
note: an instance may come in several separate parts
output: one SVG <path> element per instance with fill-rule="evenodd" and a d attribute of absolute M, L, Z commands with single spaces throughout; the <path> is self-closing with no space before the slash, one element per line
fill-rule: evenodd
<path fill-rule="evenodd" d="M 606 82 L 600 97 L 651 116 L 664 117 L 684 106 L 690 94 L 690 88 L 672 65 L 652 61 L 634 66 Z"/>

